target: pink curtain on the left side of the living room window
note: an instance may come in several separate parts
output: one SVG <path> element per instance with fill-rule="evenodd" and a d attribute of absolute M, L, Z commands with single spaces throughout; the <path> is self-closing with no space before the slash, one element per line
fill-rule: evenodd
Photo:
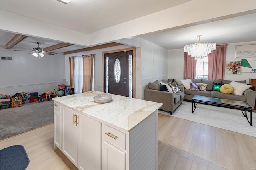
<path fill-rule="evenodd" d="M 184 79 L 194 79 L 196 78 L 196 60 L 188 53 L 184 52 L 184 71 L 183 71 Z"/>

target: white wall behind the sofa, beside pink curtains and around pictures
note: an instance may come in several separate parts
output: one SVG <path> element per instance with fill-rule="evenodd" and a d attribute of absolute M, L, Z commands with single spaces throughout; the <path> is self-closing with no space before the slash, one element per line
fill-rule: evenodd
<path fill-rule="evenodd" d="M 236 45 L 248 45 L 256 44 L 256 41 L 252 42 L 240 42 L 230 43 L 227 46 L 226 61 L 241 61 L 236 58 Z M 183 49 L 168 50 L 168 78 L 173 78 L 180 84 L 180 79 L 183 79 L 183 64 L 184 64 L 184 51 Z M 242 58 L 246 59 L 246 58 Z M 249 83 L 249 79 L 256 79 L 256 73 L 241 73 L 241 74 L 226 74 L 224 75 L 226 80 L 246 80 Z"/>

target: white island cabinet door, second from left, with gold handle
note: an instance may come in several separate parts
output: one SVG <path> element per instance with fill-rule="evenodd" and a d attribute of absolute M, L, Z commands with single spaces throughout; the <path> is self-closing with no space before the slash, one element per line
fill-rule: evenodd
<path fill-rule="evenodd" d="M 76 111 L 65 106 L 62 107 L 62 152 L 74 165 L 78 166 L 78 126 L 75 123 L 76 116 L 78 116 Z"/>

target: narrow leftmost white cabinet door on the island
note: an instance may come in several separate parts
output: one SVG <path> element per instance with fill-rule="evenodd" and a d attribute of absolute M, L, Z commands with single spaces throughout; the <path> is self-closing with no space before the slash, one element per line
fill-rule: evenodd
<path fill-rule="evenodd" d="M 60 107 L 60 105 L 58 106 Z M 54 144 L 62 150 L 62 116 L 61 113 L 54 111 Z"/>

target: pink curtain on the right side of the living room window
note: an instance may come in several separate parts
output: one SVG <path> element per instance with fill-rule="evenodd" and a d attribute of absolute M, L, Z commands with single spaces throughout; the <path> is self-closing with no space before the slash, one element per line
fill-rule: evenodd
<path fill-rule="evenodd" d="M 227 45 L 217 45 L 216 50 L 208 54 L 208 80 L 224 79 L 226 49 Z"/>

